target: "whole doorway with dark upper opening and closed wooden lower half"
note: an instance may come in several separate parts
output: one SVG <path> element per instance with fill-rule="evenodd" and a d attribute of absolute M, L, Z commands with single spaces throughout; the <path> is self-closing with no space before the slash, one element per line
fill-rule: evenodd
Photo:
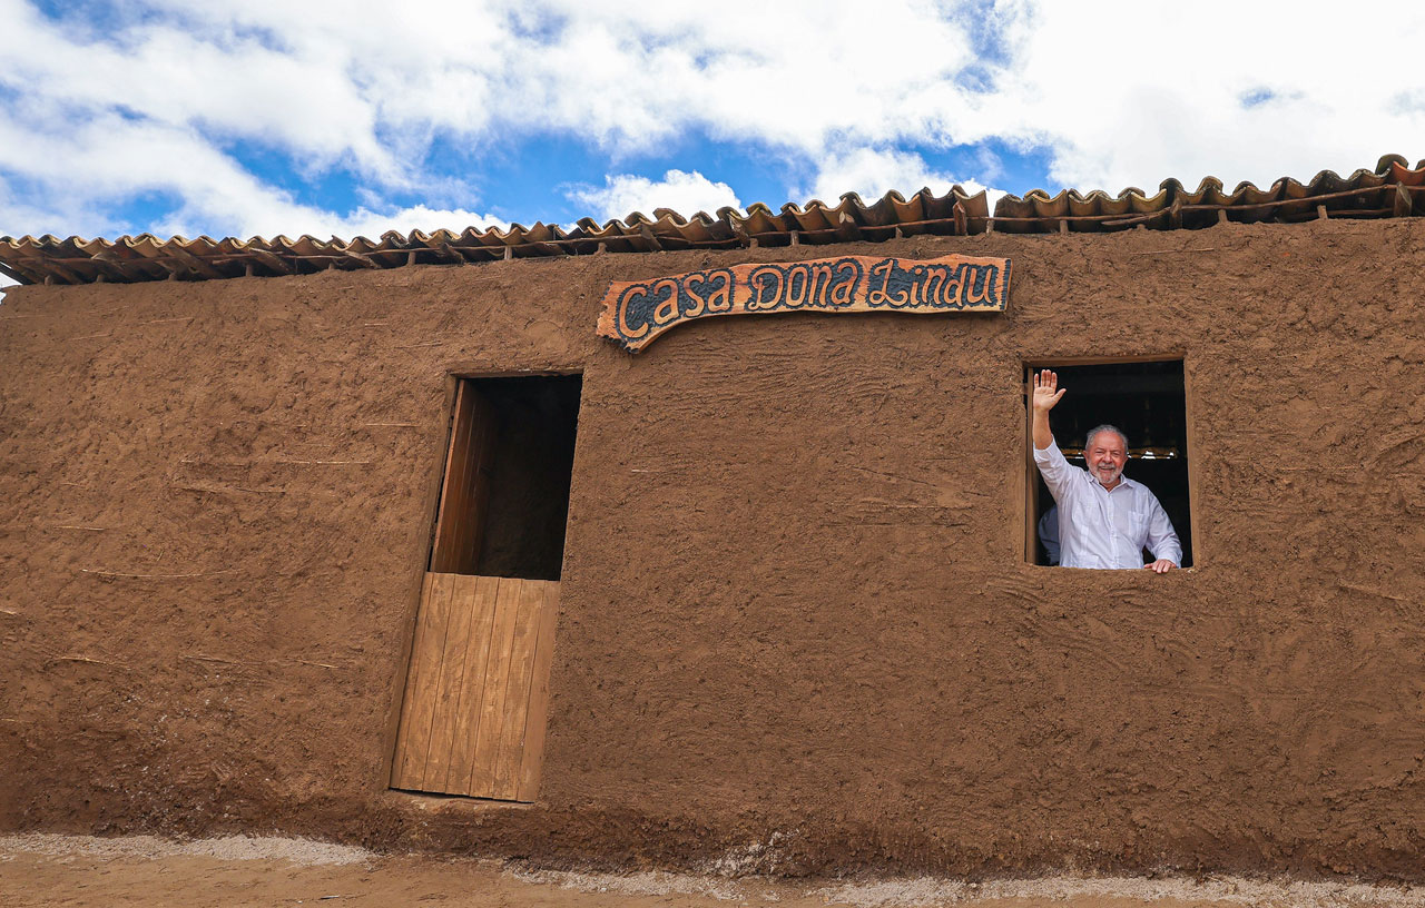
<path fill-rule="evenodd" d="M 390 787 L 532 801 L 579 376 L 460 379 Z"/>

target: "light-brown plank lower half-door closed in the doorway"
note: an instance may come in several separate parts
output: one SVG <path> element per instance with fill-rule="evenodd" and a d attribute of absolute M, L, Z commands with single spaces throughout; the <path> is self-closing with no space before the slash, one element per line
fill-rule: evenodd
<path fill-rule="evenodd" d="M 533 801 L 557 581 L 426 574 L 390 787 Z"/>

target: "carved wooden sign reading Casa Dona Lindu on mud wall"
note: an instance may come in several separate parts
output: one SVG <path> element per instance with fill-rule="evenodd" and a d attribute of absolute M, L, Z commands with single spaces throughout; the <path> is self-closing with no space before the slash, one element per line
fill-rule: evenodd
<path fill-rule="evenodd" d="M 734 265 L 608 285 L 598 334 L 631 353 L 712 316 L 782 312 L 1005 312 L 1009 259 L 844 256 Z"/>

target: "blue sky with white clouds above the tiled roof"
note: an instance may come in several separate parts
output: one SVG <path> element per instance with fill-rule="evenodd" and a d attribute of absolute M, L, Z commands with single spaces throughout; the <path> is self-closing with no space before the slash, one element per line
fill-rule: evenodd
<path fill-rule="evenodd" d="M 0 235 L 378 238 L 1425 158 L 1425 13 L 0 0 Z"/>

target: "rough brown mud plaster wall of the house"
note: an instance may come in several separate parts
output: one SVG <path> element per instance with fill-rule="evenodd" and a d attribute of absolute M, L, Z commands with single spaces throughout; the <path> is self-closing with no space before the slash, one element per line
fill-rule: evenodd
<path fill-rule="evenodd" d="M 838 252 L 1012 256 L 1012 310 L 594 337 L 613 279 Z M 0 828 L 1425 878 L 1422 266 L 1389 221 L 13 289 Z M 1163 352 L 1198 569 L 1025 565 L 1022 360 Z M 446 376 L 550 369 L 539 803 L 389 793 Z"/>

